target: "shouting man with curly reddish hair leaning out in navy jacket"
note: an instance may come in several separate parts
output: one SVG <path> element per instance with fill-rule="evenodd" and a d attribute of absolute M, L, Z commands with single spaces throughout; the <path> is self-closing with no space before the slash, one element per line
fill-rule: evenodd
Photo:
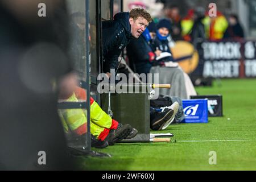
<path fill-rule="evenodd" d="M 110 69 L 117 69 L 118 57 L 132 38 L 139 36 L 152 21 L 151 15 L 144 9 L 117 13 L 114 20 L 102 22 L 103 71 L 110 77 Z"/>

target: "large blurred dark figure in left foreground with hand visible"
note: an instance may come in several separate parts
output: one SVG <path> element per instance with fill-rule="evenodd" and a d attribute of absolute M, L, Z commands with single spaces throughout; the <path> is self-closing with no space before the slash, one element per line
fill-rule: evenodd
<path fill-rule="evenodd" d="M 42 2 L 46 17 L 38 16 Z M 0 169 L 73 169 L 57 114 L 57 91 L 76 85 L 65 2 L 0 1 L 0 14 Z"/>

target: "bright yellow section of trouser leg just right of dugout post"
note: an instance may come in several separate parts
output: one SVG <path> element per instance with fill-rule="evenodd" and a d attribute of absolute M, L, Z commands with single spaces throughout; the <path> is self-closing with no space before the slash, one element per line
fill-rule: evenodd
<path fill-rule="evenodd" d="M 112 125 L 112 118 L 101 109 L 97 102 L 90 105 L 90 121 L 96 125 L 109 129 Z"/>

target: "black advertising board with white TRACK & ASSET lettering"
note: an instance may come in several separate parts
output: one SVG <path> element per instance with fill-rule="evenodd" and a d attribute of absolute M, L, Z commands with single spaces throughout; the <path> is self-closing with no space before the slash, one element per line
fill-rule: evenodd
<path fill-rule="evenodd" d="M 191 74 L 197 77 L 256 77 L 256 40 L 226 40 L 198 43 L 199 65 Z"/>

